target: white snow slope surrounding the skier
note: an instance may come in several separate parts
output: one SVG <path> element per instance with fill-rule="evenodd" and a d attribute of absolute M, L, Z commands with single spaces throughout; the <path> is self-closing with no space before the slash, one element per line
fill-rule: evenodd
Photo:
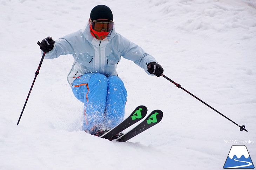
<path fill-rule="evenodd" d="M 122 59 L 126 115 L 145 105 L 163 120 L 129 142 L 81 131 L 83 104 L 66 76 L 70 55 L 43 61 L 36 42 L 83 28 L 105 3 L 116 31 L 140 45 L 164 74 L 249 132 L 163 77 Z M 222 169 L 231 143 L 246 145 L 256 162 L 256 2 L 254 0 L 0 0 L 0 169 Z"/>

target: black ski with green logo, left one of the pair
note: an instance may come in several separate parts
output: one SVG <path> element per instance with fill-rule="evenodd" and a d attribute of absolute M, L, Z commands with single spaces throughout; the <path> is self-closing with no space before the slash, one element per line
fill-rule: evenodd
<path fill-rule="evenodd" d="M 130 127 L 134 123 L 140 121 L 144 118 L 147 114 L 147 107 L 146 106 L 138 106 L 130 116 L 128 116 L 125 120 L 123 120 L 120 124 L 118 124 L 113 129 L 109 130 L 104 135 L 100 136 L 101 138 L 105 138 L 108 140 L 112 140 L 113 136 L 118 134 L 119 132 L 123 131 L 124 129 Z"/>

